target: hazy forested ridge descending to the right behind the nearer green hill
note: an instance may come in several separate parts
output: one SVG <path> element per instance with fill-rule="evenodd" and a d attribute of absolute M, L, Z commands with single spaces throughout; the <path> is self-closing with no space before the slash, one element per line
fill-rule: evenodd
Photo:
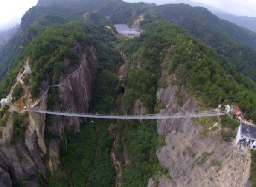
<path fill-rule="evenodd" d="M 237 71 L 256 80 L 255 33 L 219 19 L 206 8 L 174 4 L 158 6 L 157 9 L 226 57 Z"/>

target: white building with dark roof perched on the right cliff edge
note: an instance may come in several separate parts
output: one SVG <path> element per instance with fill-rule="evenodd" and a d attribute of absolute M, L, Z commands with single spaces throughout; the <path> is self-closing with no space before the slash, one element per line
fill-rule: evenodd
<path fill-rule="evenodd" d="M 256 150 L 256 127 L 241 123 L 236 134 L 236 145 L 244 150 Z"/>

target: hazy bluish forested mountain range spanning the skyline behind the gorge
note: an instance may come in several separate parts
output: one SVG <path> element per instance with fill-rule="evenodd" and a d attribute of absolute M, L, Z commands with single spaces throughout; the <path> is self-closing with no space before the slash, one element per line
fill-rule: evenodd
<path fill-rule="evenodd" d="M 205 8 L 193 8 L 184 4 L 163 5 L 154 8 L 155 6 L 152 7 L 144 3 L 129 4 L 122 1 L 108 0 L 96 0 L 93 2 L 88 0 L 61 1 L 62 3 L 58 6 L 56 5 L 58 1 L 49 2 L 41 0 L 39 1 L 39 6 L 35 6 L 26 12 L 21 23 L 21 31 L 23 33 L 31 25 L 41 25 L 41 20 L 38 19 L 45 15 L 60 16 L 66 20 L 81 20 L 86 12 L 95 11 L 102 16 L 111 15 L 113 23 L 130 24 L 136 19 L 137 15 L 154 12 L 154 15 L 161 17 L 157 13 L 161 12 L 164 14 L 162 16 L 166 16 L 173 22 L 185 27 L 201 41 L 215 48 L 219 54 L 227 57 L 235 64 L 239 72 L 250 75 L 254 80 L 256 79 L 254 74 L 255 67 L 251 65 L 255 63 L 254 59 L 256 59 L 254 49 L 256 48 L 256 34 L 219 19 Z M 7 51 L 10 51 L 10 49 Z M 6 56 L 8 55 L 0 55 L 1 62 Z M 4 61 L 12 61 L 12 59 L 8 58 Z M 6 73 L 7 69 L 3 68 L 2 71 Z M 3 74 L 1 73 L 0 77 L 2 76 Z"/>

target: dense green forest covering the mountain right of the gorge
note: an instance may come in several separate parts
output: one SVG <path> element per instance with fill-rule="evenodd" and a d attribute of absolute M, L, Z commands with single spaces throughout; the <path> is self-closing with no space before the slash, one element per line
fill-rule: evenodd
<path fill-rule="evenodd" d="M 125 97 L 132 99 L 127 103 L 137 97 L 148 105 L 154 105 L 152 98 L 155 98 L 156 82 L 160 76 L 176 74 L 180 84 L 186 85 L 187 91 L 204 101 L 206 106 L 215 107 L 219 98 L 226 97 L 241 106 L 248 118 L 256 119 L 256 85 L 250 78 L 230 69 L 233 67 L 230 62 L 179 26 L 163 21 L 145 28 L 147 30 L 140 38 L 130 40 L 123 48 L 127 54 L 143 62 L 140 70 L 134 68 L 127 75 L 128 88 L 136 89 L 127 90 Z M 142 52 L 138 54 L 137 51 Z M 160 63 L 166 70 L 163 75 Z M 141 79 L 138 85 L 140 76 L 146 78 Z M 161 87 L 160 82 L 158 86 Z M 152 98 L 147 102 L 143 92 L 151 91 Z M 138 93 L 137 96 L 134 93 Z"/>

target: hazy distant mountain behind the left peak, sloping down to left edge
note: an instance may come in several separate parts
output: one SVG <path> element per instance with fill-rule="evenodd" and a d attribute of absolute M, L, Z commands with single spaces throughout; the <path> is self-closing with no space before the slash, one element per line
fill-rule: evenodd
<path fill-rule="evenodd" d="M 39 2 L 42 2 L 41 4 L 45 6 L 40 6 Z M 13 68 L 20 61 L 18 56 L 23 51 L 23 45 L 26 45 L 35 37 L 38 28 L 49 24 L 47 21 L 51 22 L 51 24 L 59 24 L 72 20 L 83 20 L 87 12 L 93 11 L 102 16 L 111 15 L 113 23 L 131 23 L 137 15 L 152 11 L 144 3 L 130 4 L 119 0 L 76 0 L 72 2 L 61 0 L 61 4 L 58 4 L 58 1 L 42 0 L 39 2 L 39 6 L 30 8 L 22 17 L 21 32 L 17 32 L 17 38 L 11 40 L 11 42 L 14 41 L 15 43 L 10 42 L 0 50 L 0 65 L 2 65 L 0 81 L 9 68 Z M 44 16 L 51 17 L 46 20 L 47 17 Z M 32 29 L 27 30 L 29 26 L 32 26 Z M 17 42 L 18 38 L 23 38 L 23 41 Z"/>

